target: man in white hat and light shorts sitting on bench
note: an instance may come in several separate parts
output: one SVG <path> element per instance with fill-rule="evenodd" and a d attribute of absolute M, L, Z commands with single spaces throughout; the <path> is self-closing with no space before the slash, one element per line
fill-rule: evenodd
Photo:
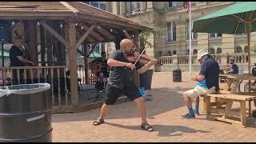
<path fill-rule="evenodd" d="M 189 113 L 182 115 L 181 118 L 195 118 L 194 114 L 199 114 L 199 96 L 203 94 L 210 94 L 218 92 L 218 75 L 219 66 L 218 62 L 214 60 L 207 52 L 203 50 L 198 51 L 198 61 L 200 62 L 200 73 L 191 78 L 193 81 L 198 82 L 193 90 L 187 90 L 183 94 L 184 101 L 188 107 Z M 192 100 L 195 102 L 194 110 L 192 108 Z"/>

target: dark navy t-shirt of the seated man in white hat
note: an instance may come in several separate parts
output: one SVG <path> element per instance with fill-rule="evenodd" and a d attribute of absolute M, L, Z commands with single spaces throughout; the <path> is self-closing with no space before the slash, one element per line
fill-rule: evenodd
<path fill-rule="evenodd" d="M 206 86 L 208 89 L 215 86 L 215 90 L 219 90 L 218 86 L 218 76 L 219 76 L 219 66 L 218 62 L 214 59 L 209 58 L 202 63 L 200 74 L 204 75 L 206 78 Z"/>

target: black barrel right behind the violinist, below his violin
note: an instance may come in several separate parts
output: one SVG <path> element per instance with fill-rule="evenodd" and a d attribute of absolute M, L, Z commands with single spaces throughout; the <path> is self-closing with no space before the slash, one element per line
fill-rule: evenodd
<path fill-rule="evenodd" d="M 154 70 L 147 70 L 145 73 L 140 74 L 140 87 L 145 87 L 146 90 L 151 90 L 151 82 Z"/>

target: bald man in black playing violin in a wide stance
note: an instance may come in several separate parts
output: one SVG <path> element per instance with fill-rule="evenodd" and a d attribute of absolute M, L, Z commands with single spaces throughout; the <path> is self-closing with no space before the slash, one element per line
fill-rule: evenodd
<path fill-rule="evenodd" d="M 123 39 L 120 42 L 120 50 L 114 50 L 107 64 L 111 66 L 109 81 L 106 86 L 107 99 L 102 105 L 102 110 L 99 118 L 93 123 L 94 126 L 98 126 L 104 122 L 104 118 L 110 109 L 110 106 L 114 105 L 114 102 L 122 94 L 126 95 L 132 101 L 136 102 L 138 111 L 142 118 L 142 129 L 147 131 L 154 131 L 153 127 L 146 121 L 146 106 L 144 99 L 140 94 L 138 87 L 134 83 L 134 73 L 132 70 L 138 70 L 138 73 L 142 74 L 149 70 L 157 61 L 152 59 L 145 66 L 141 66 L 139 63 L 134 66 L 133 63 L 128 62 L 127 55 L 133 54 L 134 47 L 133 42 L 130 39 Z"/>

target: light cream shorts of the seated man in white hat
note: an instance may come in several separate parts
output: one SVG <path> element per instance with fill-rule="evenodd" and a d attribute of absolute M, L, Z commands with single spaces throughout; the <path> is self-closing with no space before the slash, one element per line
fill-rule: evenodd
<path fill-rule="evenodd" d="M 189 96 L 191 99 L 197 98 L 203 94 L 210 94 L 210 90 L 204 89 L 201 86 L 195 86 L 192 90 L 185 91 L 185 94 Z"/>

